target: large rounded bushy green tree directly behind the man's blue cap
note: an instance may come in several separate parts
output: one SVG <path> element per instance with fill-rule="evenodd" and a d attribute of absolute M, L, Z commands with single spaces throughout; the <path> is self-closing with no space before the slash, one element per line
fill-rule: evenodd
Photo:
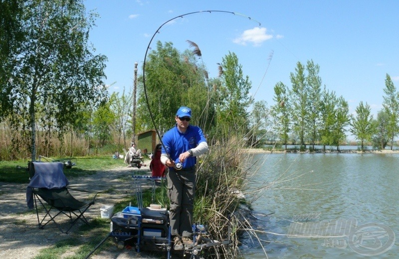
<path fill-rule="evenodd" d="M 185 52 L 182 55 L 172 42 L 157 42 L 157 49 L 150 52 L 146 62 L 146 91 L 143 84 L 138 86 L 138 117 L 143 124 L 142 130 L 153 127 L 149 106 L 161 135 L 175 123 L 173 116 L 184 105 L 193 110 L 193 124 L 206 121 L 202 111 L 207 105 L 208 89 L 204 83 L 204 73 L 196 63 L 194 55 Z M 139 78 L 143 82 L 143 78 Z"/>

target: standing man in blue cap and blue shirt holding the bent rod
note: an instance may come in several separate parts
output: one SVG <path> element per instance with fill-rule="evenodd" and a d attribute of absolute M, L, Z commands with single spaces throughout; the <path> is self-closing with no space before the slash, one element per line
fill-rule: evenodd
<path fill-rule="evenodd" d="M 171 235 L 175 250 L 183 243 L 193 245 L 193 211 L 196 192 L 197 156 L 208 151 L 208 144 L 198 126 L 190 125 L 191 109 L 182 106 L 175 116 L 176 125 L 162 138 L 161 162 L 169 167 L 167 174 L 170 199 Z M 183 243 L 182 243 L 183 242 Z"/>

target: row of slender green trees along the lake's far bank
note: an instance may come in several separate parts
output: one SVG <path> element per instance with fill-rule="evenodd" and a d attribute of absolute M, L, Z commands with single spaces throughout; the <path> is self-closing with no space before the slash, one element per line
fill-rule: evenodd
<path fill-rule="evenodd" d="M 364 143 L 372 143 L 373 147 L 384 149 L 398 135 L 399 93 L 389 74 L 385 78 L 383 109 L 373 118 L 370 105 L 361 101 L 356 107 L 356 114 L 349 114 L 348 102 L 343 96 L 337 97 L 335 91 L 324 86 L 319 76 L 319 65 L 313 60 L 306 66 L 297 63 L 295 72 L 290 74 L 292 87 L 282 82 L 274 86 L 270 116 L 274 129 L 279 135 L 280 143 L 295 143 L 314 149 L 315 144 L 339 146 L 347 141 L 348 131 Z"/>

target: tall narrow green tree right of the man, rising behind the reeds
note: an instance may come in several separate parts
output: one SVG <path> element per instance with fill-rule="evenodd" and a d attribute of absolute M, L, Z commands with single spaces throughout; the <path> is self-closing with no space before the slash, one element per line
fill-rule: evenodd
<path fill-rule="evenodd" d="M 238 63 L 234 52 L 229 52 L 222 58 L 220 70 L 218 128 L 225 136 L 232 132 L 246 134 L 247 109 L 252 102 L 252 97 L 248 95 L 251 88 L 249 77 L 243 75 L 242 65 Z"/>

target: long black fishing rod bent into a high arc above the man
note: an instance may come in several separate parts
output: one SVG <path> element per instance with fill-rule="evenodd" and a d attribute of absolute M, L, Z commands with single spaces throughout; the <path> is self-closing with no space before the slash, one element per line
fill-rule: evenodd
<path fill-rule="evenodd" d="M 261 23 L 260 23 L 259 21 L 254 20 L 254 19 L 252 19 L 251 17 L 249 17 L 249 16 L 247 16 L 247 15 L 245 15 L 245 14 L 238 13 L 238 12 L 232 12 L 232 11 L 206 10 L 206 11 L 194 11 L 194 12 L 185 13 L 185 14 L 182 14 L 182 15 L 178 15 L 178 16 L 172 18 L 172 19 L 169 19 L 169 20 L 165 21 L 164 23 L 162 23 L 161 26 L 159 26 L 159 28 L 155 31 L 155 33 L 154 33 L 153 36 L 151 37 L 150 42 L 148 43 L 148 46 L 147 46 L 147 49 L 146 49 L 146 54 L 144 55 L 144 63 L 143 63 L 143 87 L 144 87 L 144 96 L 145 96 L 145 98 L 146 98 L 147 107 L 148 107 L 148 112 L 150 113 L 151 121 L 152 121 L 152 123 L 153 123 L 153 125 L 154 125 L 154 128 L 155 128 L 155 131 L 156 131 L 156 133 L 157 133 L 157 135 L 158 135 L 158 138 L 159 138 L 160 141 L 161 141 L 161 145 L 164 147 L 164 149 L 165 149 L 165 151 L 166 151 L 166 155 L 168 156 L 168 158 L 169 158 L 171 161 L 172 161 L 172 158 L 170 157 L 170 155 L 169 155 L 168 151 L 166 150 L 166 147 L 165 147 L 165 145 L 164 145 L 164 143 L 163 143 L 163 141 L 162 141 L 162 138 L 161 138 L 160 133 L 159 133 L 159 131 L 158 131 L 157 125 L 155 124 L 154 116 L 153 116 L 153 113 L 151 112 L 151 107 L 150 107 L 150 103 L 149 103 L 149 100 L 148 100 L 147 88 L 146 88 L 146 59 L 147 59 L 148 50 L 151 49 L 150 45 L 151 45 L 151 43 L 152 43 L 152 41 L 153 41 L 155 35 L 157 35 L 157 33 L 160 33 L 160 29 L 161 29 L 165 24 L 167 24 L 168 22 L 170 22 L 170 21 L 172 21 L 172 20 L 174 20 L 174 19 L 177 19 L 177 18 L 183 18 L 183 17 L 185 17 L 185 16 L 187 16 L 187 15 L 190 15 L 190 14 L 195 14 L 195 13 L 212 13 L 212 12 L 230 13 L 230 14 L 233 14 L 233 15 L 246 17 L 246 18 L 248 18 L 249 20 L 252 20 L 252 21 L 257 22 L 257 23 L 259 24 L 259 26 L 261 25 Z"/>

